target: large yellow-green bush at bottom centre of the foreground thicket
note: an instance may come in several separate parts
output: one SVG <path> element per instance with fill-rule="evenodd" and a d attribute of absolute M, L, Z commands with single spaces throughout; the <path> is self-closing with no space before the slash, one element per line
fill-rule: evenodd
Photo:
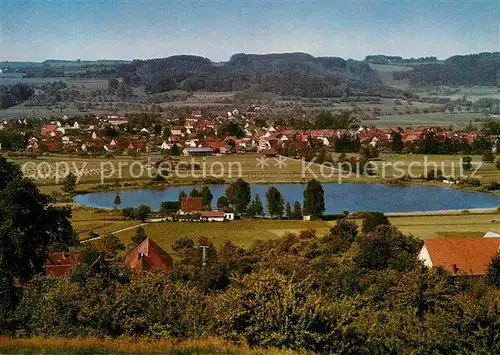
<path fill-rule="evenodd" d="M 250 346 L 330 353 L 352 352 L 362 343 L 352 303 L 329 302 L 309 280 L 292 282 L 271 270 L 245 276 L 211 307 L 219 334 Z"/>

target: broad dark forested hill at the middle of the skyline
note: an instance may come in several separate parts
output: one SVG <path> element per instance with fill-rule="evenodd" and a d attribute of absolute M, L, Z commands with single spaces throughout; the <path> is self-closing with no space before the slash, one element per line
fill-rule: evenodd
<path fill-rule="evenodd" d="M 186 91 L 273 92 L 302 97 L 397 96 L 366 63 L 306 53 L 235 54 L 223 64 L 197 56 L 137 60 L 119 75 L 145 85 L 149 93 Z"/>

